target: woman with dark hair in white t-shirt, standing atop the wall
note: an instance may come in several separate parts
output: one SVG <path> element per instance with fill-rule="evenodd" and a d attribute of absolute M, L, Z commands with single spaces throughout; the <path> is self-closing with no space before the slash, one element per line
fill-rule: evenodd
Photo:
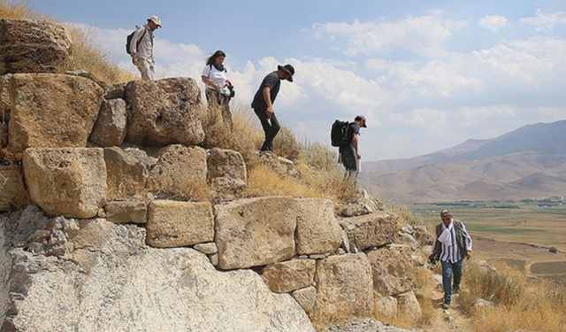
<path fill-rule="evenodd" d="M 232 113 L 230 112 L 230 99 L 234 96 L 232 83 L 227 80 L 227 71 L 224 67 L 224 59 L 226 53 L 223 50 L 217 50 L 206 60 L 202 79 L 206 85 L 204 95 L 209 104 L 209 109 L 220 108 L 224 123 L 233 128 Z"/>

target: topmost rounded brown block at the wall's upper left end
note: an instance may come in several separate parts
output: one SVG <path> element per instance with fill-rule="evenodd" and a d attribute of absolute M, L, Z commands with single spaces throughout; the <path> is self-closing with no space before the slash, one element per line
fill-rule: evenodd
<path fill-rule="evenodd" d="M 72 57 L 65 26 L 51 20 L 0 19 L 0 75 L 58 73 Z"/>

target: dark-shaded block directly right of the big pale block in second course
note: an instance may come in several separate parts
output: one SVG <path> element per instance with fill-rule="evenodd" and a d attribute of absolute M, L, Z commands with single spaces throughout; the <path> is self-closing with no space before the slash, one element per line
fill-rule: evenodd
<path fill-rule="evenodd" d="M 147 194 L 149 168 L 154 164 L 145 151 L 104 148 L 108 199 L 142 198 Z"/>

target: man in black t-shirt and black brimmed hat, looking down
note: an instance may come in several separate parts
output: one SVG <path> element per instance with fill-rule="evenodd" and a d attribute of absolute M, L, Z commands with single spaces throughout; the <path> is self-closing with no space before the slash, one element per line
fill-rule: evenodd
<path fill-rule="evenodd" d="M 265 132 L 265 141 L 259 149 L 260 154 L 266 151 L 273 151 L 273 139 L 280 129 L 279 121 L 275 116 L 275 112 L 273 112 L 273 103 L 279 93 L 281 80 L 293 81 L 293 75 L 293 66 L 277 66 L 277 71 L 265 76 L 251 103 L 251 107 L 254 109 Z"/>

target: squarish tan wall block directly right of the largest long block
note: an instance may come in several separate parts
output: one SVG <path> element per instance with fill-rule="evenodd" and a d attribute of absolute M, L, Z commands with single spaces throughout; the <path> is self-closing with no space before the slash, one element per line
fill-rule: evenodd
<path fill-rule="evenodd" d="M 342 243 L 342 228 L 334 218 L 333 202 L 328 199 L 297 199 L 301 214 L 295 233 L 299 255 L 333 253 Z"/>

